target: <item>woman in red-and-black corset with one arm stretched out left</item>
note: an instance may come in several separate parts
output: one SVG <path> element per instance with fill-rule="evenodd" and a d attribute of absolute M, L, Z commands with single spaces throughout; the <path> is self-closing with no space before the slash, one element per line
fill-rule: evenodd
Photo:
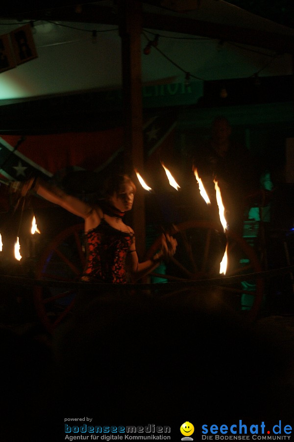
<path fill-rule="evenodd" d="M 30 189 L 85 220 L 87 259 L 82 281 L 134 282 L 158 267 L 162 258 L 169 258 L 175 252 L 176 240 L 165 234 L 161 237 L 160 252 L 139 263 L 134 231 L 123 222 L 125 212 L 132 209 L 136 193 L 136 186 L 128 175 L 117 174 L 108 179 L 105 198 L 96 204 L 84 202 L 38 179 L 27 181 L 22 186 L 22 195 Z"/>

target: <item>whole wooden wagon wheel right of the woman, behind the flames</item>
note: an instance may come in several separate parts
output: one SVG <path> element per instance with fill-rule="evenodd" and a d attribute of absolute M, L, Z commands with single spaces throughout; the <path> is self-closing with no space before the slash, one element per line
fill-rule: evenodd
<path fill-rule="evenodd" d="M 249 276 L 261 272 L 262 267 L 254 249 L 245 239 L 231 230 L 224 234 L 220 224 L 205 220 L 181 222 L 173 226 L 169 233 L 177 239 L 176 253 L 167 263 L 164 273 L 156 273 L 155 270 L 152 275 L 168 282 L 219 278 L 220 262 L 227 243 L 228 267 L 225 276 L 247 274 L 248 277 L 245 276 L 244 280 L 240 278 L 233 285 L 221 284 L 219 293 L 231 308 L 246 312 L 248 319 L 253 320 L 263 301 L 264 281 Z M 159 246 L 160 237 L 147 251 L 146 258 L 153 256 Z M 192 285 L 185 287 L 175 288 L 172 293 L 191 291 Z"/>

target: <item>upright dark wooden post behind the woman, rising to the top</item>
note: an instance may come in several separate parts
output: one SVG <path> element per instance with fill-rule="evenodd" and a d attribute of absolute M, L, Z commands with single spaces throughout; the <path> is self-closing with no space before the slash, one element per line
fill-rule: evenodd
<path fill-rule="evenodd" d="M 143 170 L 143 105 L 141 70 L 142 3 L 119 0 L 120 36 L 122 39 L 124 165 L 134 177 L 134 168 Z M 139 259 L 145 253 L 145 201 L 141 186 L 137 188 L 132 210 Z"/>

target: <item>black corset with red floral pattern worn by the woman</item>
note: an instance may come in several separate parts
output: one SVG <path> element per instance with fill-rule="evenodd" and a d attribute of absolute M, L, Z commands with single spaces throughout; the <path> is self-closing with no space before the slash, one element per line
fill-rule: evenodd
<path fill-rule="evenodd" d="M 121 232 L 104 218 L 85 233 L 87 259 L 82 281 L 126 283 L 125 258 L 133 233 Z"/>

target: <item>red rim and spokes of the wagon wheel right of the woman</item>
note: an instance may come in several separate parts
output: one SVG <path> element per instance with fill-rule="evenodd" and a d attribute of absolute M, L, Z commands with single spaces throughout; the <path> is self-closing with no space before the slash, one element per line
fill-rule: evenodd
<path fill-rule="evenodd" d="M 187 244 L 187 231 L 190 229 L 198 229 L 199 231 L 205 231 L 205 237 L 202 244 L 203 249 L 203 259 L 200 260 L 200 263 L 196 265 L 195 263 L 195 256 L 192 256 L 191 254 L 193 252 L 191 251 L 191 244 Z M 171 293 L 169 293 L 168 296 L 171 296 L 172 293 L 175 292 L 187 292 L 191 291 L 191 287 L 189 286 L 186 289 L 180 288 L 180 282 L 181 281 L 197 281 L 199 279 L 209 280 L 212 277 L 221 277 L 219 274 L 220 269 L 220 261 L 214 263 L 214 266 L 211 267 L 211 263 L 209 260 L 210 256 L 210 248 L 213 247 L 213 236 L 214 235 L 223 235 L 226 239 L 224 241 L 224 245 L 226 242 L 228 242 L 228 256 L 230 258 L 230 255 L 234 253 L 234 250 L 237 249 L 237 252 L 241 252 L 244 256 L 243 261 L 240 263 L 235 263 L 234 267 L 229 264 L 228 271 L 225 276 L 242 276 L 250 273 L 259 273 L 262 271 L 262 266 L 259 262 L 259 259 L 254 251 L 254 249 L 245 241 L 244 238 L 237 235 L 235 232 L 228 230 L 226 232 L 226 235 L 223 233 L 222 227 L 220 224 L 214 222 L 214 221 L 205 221 L 205 220 L 199 220 L 199 221 L 184 221 L 181 222 L 175 226 L 173 226 L 170 230 L 170 234 L 174 235 L 174 237 L 179 240 L 182 243 L 182 249 L 185 249 L 187 252 L 186 258 L 189 260 L 189 268 L 188 266 L 185 266 L 183 262 L 181 262 L 180 259 L 178 259 L 178 251 L 176 251 L 174 257 L 170 260 L 172 262 L 172 268 L 178 269 L 179 274 L 181 275 L 175 275 L 174 272 L 172 274 L 169 273 L 159 273 L 152 272 L 151 275 L 166 279 L 168 282 L 179 282 L 179 284 L 175 284 L 175 289 Z M 178 241 L 179 242 L 179 241 Z M 160 248 L 161 239 L 158 237 L 153 245 L 148 249 L 146 258 L 151 258 L 154 253 Z M 223 249 L 224 251 L 224 249 Z M 190 258 L 189 258 L 190 256 Z M 221 255 L 220 255 L 221 256 Z M 245 262 L 247 261 L 247 262 Z M 230 259 L 229 259 L 230 263 Z M 245 279 L 246 282 L 246 279 Z M 176 285 L 178 287 L 176 288 Z M 163 283 L 164 286 L 164 283 Z M 255 286 L 255 287 L 254 287 Z M 263 294 L 264 294 L 264 280 L 259 277 L 256 278 L 254 281 L 253 287 L 249 286 L 249 290 L 246 290 L 244 287 L 241 287 L 241 283 L 238 286 L 232 287 L 231 285 L 224 285 L 221 284 L 222 291 L 227 292 L 228 296 L 234 296 L 237 295 L 239 297 L 253 297 L 253 302 L 249 309 L 241 310 L 244 315 L 251 321 L 256 318 L 258 315 L 258 312 L 261 308 L 262 301 L 263 301 Z M 240 305 L 240 308 L 242 305 Z"/>

